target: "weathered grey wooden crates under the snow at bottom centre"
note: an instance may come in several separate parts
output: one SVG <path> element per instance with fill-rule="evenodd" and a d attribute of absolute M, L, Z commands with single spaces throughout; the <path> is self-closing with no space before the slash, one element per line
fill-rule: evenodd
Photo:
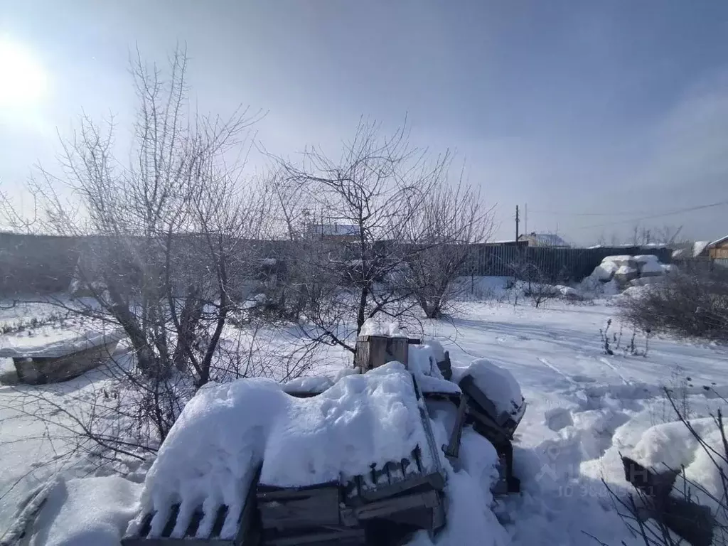
<path fill-rule="evenodd" d="M 400 461 L 374 464 L 371 472 L 338 482 L 301 488 L 258 484 L 258 513 L 264 545 L 380 543 L 406 531 L 437 531 L 445 524 L 445 471 L 422 404 L 422 391 L 412 376 L 416 403 L 427 443 Z M 288 390 L 309 397 L 313 389 Z"/>

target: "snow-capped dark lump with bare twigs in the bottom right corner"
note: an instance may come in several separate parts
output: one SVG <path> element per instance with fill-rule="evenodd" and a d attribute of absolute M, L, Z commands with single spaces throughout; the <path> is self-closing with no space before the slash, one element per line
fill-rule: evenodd
<path fill-rule="evenodd" d="M 726 545 L 728 440 L 721 411 L 689 419 L 669 389 L 665 396 L 678 420 L 646 430 L 630 456 L 622 456 L 634 493 L 625 498 L 607 489 L 645 545 Z"/>

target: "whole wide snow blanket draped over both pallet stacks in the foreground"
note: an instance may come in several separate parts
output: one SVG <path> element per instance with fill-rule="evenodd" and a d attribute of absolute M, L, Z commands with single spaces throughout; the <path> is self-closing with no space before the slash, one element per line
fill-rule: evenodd
<path fill-rule="evenodd" d="M 173 502 L 181 502 L 183 515 L 173 534 L 183 533 L 200 503 L 207 514 L 200 529 L 213 525 L 219 505 L 228 505 L 221 537 L 229 538 L 261 462 L 261 483 L 305 486 L 363 474 L 425 443 L 411 375 L 400 363 L 344 377 L 305 399 L 266 379 L 212 385 L 187 403 L 167 435 L 141 505 L 143 512 L 159 511 L 151 536 L 162 531 Z M 141 516 L 130 531 L 140 523 Z"/>

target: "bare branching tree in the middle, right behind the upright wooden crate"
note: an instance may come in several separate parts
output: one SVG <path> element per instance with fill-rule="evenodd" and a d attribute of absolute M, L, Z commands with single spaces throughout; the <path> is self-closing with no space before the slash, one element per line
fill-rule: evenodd
<path fill-rule="evenodd" d="M 341 157 L 308 149 L 301 164 L 277 158 L 282 186 L 298 192 L 281 199 L 294 218 L 316 211 L 296 235 L 296 278 L 305 293 L 306 336 L 344 347 L 370 317 L 413 320 L 416 302 L 403 271 L 412 253 L 420 210 L 446 178 L 447 152 L 431 157 L 408 141 L 404 127 L 383 136 L 360 122 Z M 305 205 L 303 205 L 305 203 Z M 289 222 L 290 223 L 290 222 Z"/>

